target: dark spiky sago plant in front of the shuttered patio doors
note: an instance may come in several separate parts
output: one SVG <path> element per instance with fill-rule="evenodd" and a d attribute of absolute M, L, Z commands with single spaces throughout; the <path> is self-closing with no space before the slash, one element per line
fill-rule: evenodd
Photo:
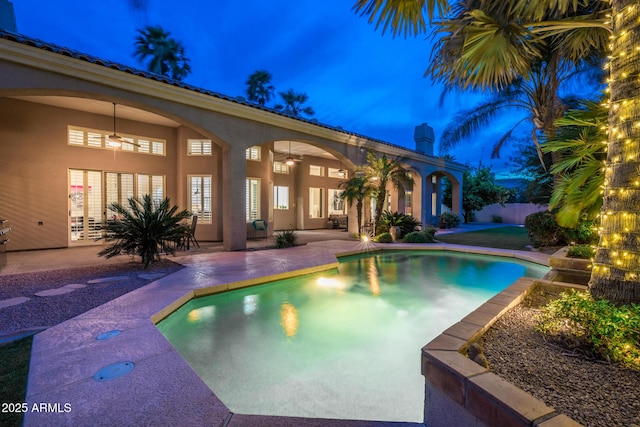
<path fill-rule="evenodd" d="M 129 198 L 128 207 L 113 203 L 110 209 L 116 213 L 116 219 L 107 221 L 105 240 L 115 243 L 98 255 L 106 258 L 138 255 L 144 268 L 160 259 L 160 251 L 175 253 L 176 243 L 184 239 L 188 231 L 181 222 L 191 217 L 187 210 L 177 212 L 177 206 L 170 207 L 169 198 L 154 203 L 148 194 L 142 200 Z"/>

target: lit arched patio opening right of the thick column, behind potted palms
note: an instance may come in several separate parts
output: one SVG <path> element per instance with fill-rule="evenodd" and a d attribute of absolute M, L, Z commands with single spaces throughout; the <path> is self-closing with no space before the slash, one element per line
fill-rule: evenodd
<path fill-rule="evenodd" d="M 276 139 L 250 147 L 247 156 L 247 230 L 266 219 L 269 234 L 347 226 L 341 184 L 355 164 L 344 149 L 302 138 Z M 268 161 L 266 161 L 268 159 Z"/>

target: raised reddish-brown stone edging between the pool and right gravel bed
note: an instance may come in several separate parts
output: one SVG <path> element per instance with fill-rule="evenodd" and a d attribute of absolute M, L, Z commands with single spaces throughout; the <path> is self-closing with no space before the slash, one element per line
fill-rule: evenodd
<path fill-rule="evenodd" d="M 421 366 L 426 383 L 427 425 L 444 425 L 439 424 L 439 420 L 450 422 L 451 412 L 460 411 L 460 420 L 471 417 L 479 425 L 524 427 L 557 421 L 558 425 L 580 426 L 463 355 L 502 314 L 520 304 L 538 285 L 584 288 L 570 283 L 521 278 L 465 317 L 488 319 L 484 325 L 462 319 L 423 347 Z M 499 305 L 503 306 L 501 310 L 497 310 Z M 448 398 L 446 407 L 429 405 L 429 396 L 434 393 Z"/>

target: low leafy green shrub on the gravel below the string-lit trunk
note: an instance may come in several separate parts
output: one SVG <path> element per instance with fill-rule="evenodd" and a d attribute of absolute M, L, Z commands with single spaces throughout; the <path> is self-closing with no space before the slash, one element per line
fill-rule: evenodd
<path fill-rule="evenodd" d="M 605 360 L 640 369 L 640 305 L 616 307 L 571 290 L 544 308 L 537 329 L 573 337 Z"/>

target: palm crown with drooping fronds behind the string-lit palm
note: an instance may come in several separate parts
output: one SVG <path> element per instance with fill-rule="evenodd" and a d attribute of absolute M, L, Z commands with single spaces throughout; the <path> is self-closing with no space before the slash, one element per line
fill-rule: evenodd
<path fill-rule="evenodd" d="M 572 19 L 590 18 L 601 16 L 601 2 L 587 1 L 579 4 L 575 10 L 561 12 L 558 10 L 547 11 L 540 19 L 562 20 L 567 16 Z M 520 13 L 520 12 L 519 12 Z M 445 131 L 442 138 L 442 148 L 457 145 L 464 138 L 482 127 L 489 126 L 496 114 L 505 109 L 515 110 L 514 126 L 509 129 L 494 145 L 492 158 L 499 157 L 500 149 L 511 138 L 513 130 L 521 123 L 528 122 L 531 125 L 531 139 L 538 151 L 541 164 L 546 169 L 538 134 L 542 133 L 546 139 L 553 138 L 556 132 L 555 121 L 559 119 L 567 107 L 567 99 L 560 97 L 560 92 L 566 92 L 567 83 L 575 80 L 576 75 L 587 76 L 591 80 L 600 81 L 602 74 L 602 58 L 605 55 L 605 46 L 608 43 L 608 31 L 596 30 L 592 39 L 593 44 L 582 43 L 580 33 L 563 32 L 552 36 L 540 38 L 534 44 L 535 54 L 527 51 L 528 61 L 522 63 L 515 58 L 506 60 L 514 68 L 520 68 L 520 74 L 507 74 L 497 72 L 492 76 L 494 81 L 486 81 L 476 77 L 477 70 L 470 70 L 457 62 L 461 55 L 461 46 L 467 43 L 473 33 L 477 38 L 475 45 L 469 46 L 466 54 L 476 54 L 477 51 L 485 51 L 489 54 L 484 60 L 483 66 L 487 73 L 491 73 L 494 66 L 491 58 L 500 58 L 504 49 L 495 40 L 494 34 L 487 35 L 486 26 L 512 25 L 519 22 L 522 15 L 513 15 L 504 8 L 504 3 L 495 1 L 470 1 L 456 5 L 452 16 L 442 23 L 436 30 L 441 35 L 432 52 L 433 59 L 427 70 L 427 74 L 446 88 L 473 88 L 488 89 L 489 96 L 479 106 L 460 112 Z M 533 11 L 524 19 L 536 20 Z M 482 30 L 477 27 L 482 26 Z M 528 40 L 531 37 L 522 37 Z M 505 41 L 502 41 L 503 43 Z M 496 51 L 502 49 L 502 52 Z M 478 53 L 479 54 L 479 53 Z M 515 68 L 517 69 L 517 68 Z M 453 71 L 453 72 L 452 72 Z M 513 70 L 507 70 L 513 73 Z M 594 85 L 595 86 L 595 85 Z M 569 100 L 570 101 L 570 100 Z M 555 158 L 553 159 L 556 160 Z"/>

